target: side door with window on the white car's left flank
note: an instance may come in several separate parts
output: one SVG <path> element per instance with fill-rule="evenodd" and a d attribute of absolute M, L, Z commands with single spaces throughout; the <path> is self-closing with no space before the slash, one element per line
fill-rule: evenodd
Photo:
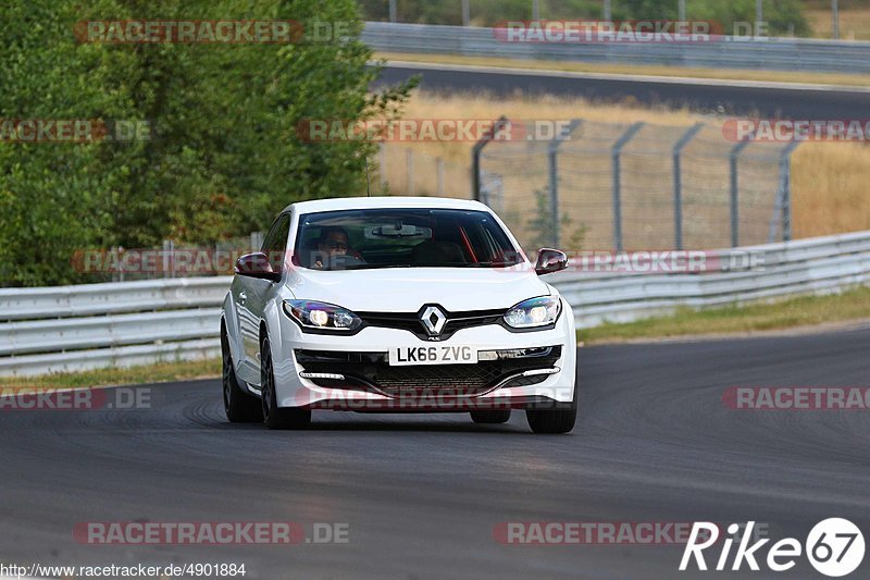
<path fill-rule="evenodd" d="M 290 232 L 290 215 L 284 213 L 278 215 L 270 227 L 269 233 L 263 239 L 263 251 L 272 263 L 272 269 L 282 272 L 284 267 L 284 255 L 287 249 L 287 237 Z M 236 307 L 239 313 L 239 328 L 241 329 L 241 340 L 245 347 L 245 361 L 250 371 L 256 371 L 256 377 L 249 377 L 249 382 L 259 383 L 260 369 L 260 320 L 263 318 L 263 309 L 270 296 L 270 289 L 277 284 L 269 280 L 251 276 L 238 276 L 241 279 L 239 293 L 236 296 Z"/>

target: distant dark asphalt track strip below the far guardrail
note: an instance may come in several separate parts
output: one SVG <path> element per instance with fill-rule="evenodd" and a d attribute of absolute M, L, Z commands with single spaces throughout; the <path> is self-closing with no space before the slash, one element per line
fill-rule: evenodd
<path fill-rule="evenodd" d="M 559 95 L 585 97 L 602 102 L 635 102 L 726 115 L 761 115 L 797 120 L 865 119 L 870 91 L 863 88 L 796 89 L 775 84 L 729 83 L 675 79 L 649 81 L 644 77 L 583 75 L 550 71 L 500 72 L 492 67 L 390 64 L 374 86 L 396 84 L 421 75 L 421 88 L 457 92 L 488 91 L 493 95 Z"/>

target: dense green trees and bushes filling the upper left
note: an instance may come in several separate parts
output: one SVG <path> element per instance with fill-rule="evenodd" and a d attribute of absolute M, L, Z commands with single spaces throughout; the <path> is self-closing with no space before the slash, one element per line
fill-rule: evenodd
<path fill-rule="evenodd" d="M 87 8 L 82 8 L 87 4 Z M 78 44 L 86 20 L 349 22 L 351 0 L 8 0 L 0 120 L 150 123 L 151 139 L 0 143 L 0 285 L 94 281 L 76 249 L 207 244 L 266 227 L 300 199 L 359 195 L 370 143 L 306 143 L 304 119 L 395 115 L 357 40 L 298 45 Z"/>

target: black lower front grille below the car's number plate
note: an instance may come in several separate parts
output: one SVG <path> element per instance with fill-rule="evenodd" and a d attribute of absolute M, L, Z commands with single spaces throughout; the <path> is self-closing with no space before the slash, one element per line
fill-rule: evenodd
<path fill-rule="evenodd" d="M 502 355 L 499 355 L 502 353 Z M 296 350 L 296 359 L 308 372 L 343 374 L 344 381 L 312 379 L 314 384 L 332 388 L 380 391 L 395 397 L 473 396 L 486 393 L 511 375 L 526 370 L 548 369 L 562 354 L 561 346 L 526 349 L 526 356 L 515 357 L 515 350 L 487 351 L 486 359 L 476 365 L 413 365 L 391 367 L 385 353 L 341 353 L 330 350 Z M 481 357 L 483 358 L 483 357 Z M 539 383 L 548 375 L 518 377 L 506 386 Z"/>

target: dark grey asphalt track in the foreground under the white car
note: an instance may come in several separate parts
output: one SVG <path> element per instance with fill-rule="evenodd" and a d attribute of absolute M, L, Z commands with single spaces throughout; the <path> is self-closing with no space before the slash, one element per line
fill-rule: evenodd
<path fill-rule="evenodd" d="M 245 563 L 246 578 L 691 578 L 675 545 L 505 545 L 504 521 L 712 520 L 801 543 L 870 529 L 870 411 L 735 411 L 732 385 L 866 386 L 870 329 L 581 349 L 581 420 L 540 436 L 468 416 L 321 412 L 303 432 L 231 425 L 217 381 L 148 410 L 0 412 L 2 560 Z M 88 545 L 82 521 L 346 522 L 315 545 Z M 768 544 L 770 545 L 770 544 Z M 718 551 L 708 557 L 712 566 Z M 732 552 L 733 554 L 733 552 Z M 853 577 L 866 578 L 870 558 Z M 743 575 L 749 576 L 744 566 Z M 754 578 L 773 577 L 771 571 Z M 779 577 L 818 577 L 806 558 Z"/>

